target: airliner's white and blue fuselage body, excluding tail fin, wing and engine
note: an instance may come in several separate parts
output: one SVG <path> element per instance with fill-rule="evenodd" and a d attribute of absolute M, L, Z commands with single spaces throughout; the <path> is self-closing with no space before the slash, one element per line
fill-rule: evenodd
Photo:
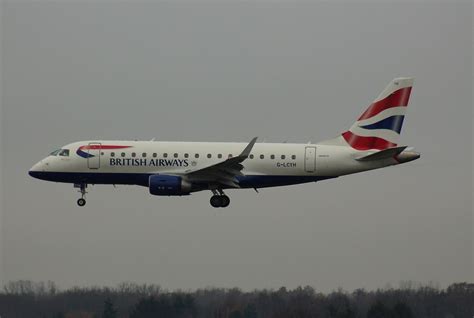
<path fill-rule="evenodd" d="M 97 149 L 79 150 L 88 145 L 97 145 Z M 31 172 L 37 172 L 34 176 L 40 179 L 57 182 L 148 186 L 149 175 L 186 175 L 238 156 L 246 145 L 223 142 L 81 141 L 61 148 L 69 151 L 68 156 L 48 156 L 37 163 Z M 360 162 L 354 160 L 357 155 L 360 155 L 359 151 L 338 145 L 257 143 L 242 162 L 244 176 L 240 177 L 241 187 L 260 188 L 318 181 L 398 163 L 393 158 Z"/>

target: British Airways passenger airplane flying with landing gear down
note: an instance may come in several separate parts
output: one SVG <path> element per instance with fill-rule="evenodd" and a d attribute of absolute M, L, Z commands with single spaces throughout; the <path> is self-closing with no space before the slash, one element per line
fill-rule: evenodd
<path fill-rule="evenodd" d="M 413 78 L 393 79 L 349 130 L 315 144 L 88 140 L 53 151 L 29 175 L 74 184 L 81 207 L 91 184 L 139 185 L 157 196 L 210 190 L 211 206 L 227 207 L 224 190 L 258 192 L 418 159 L 398 145 L 412 87 Z"/>

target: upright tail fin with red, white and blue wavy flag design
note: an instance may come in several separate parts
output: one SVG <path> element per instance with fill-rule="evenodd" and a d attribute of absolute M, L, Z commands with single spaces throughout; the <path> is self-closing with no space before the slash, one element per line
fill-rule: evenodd
<path fill-rule="evenodd" d="M 413 78 L 395 78 L 342 134 L 354 149 L 383 150 L 398 145 L 403 119 L 410 99 Z"/>

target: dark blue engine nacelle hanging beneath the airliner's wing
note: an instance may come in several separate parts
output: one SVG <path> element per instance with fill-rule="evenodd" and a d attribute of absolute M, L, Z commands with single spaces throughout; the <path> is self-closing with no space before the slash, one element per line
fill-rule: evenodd
<path fill-rule="evenodd" d="M 191 192 L 188 181 L 166 174 L 150 176 L 148 187 L 153 195 L 188 195 Z"/>

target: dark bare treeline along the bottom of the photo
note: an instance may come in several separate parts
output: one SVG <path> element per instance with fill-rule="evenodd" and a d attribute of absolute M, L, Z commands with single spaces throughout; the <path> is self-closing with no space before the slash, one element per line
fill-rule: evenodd
<path fill-rule="evenodd" d="M 59 290 L 52 282 L 14 281 L 0 292 L 1 318 L 472 318 L 474 284 L 416 286 L 329 294 L 298 287 L 167 291 L 157 285 Z"/>

